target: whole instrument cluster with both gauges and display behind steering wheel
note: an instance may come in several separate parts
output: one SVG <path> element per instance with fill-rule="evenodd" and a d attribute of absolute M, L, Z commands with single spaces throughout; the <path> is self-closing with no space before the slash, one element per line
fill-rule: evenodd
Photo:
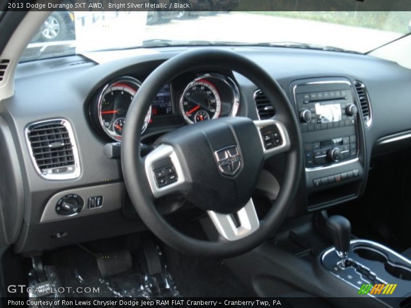
<path fill-rule="evenodd" d="M 121 76 L 105 84 L 91 101 L 89 115 L 104 136 L 121 141 L 126 114 L 141 82 Z M 221 73 L 181 76 L 164 85 L 148 110 L 143 134 L 220 117 L 235 117 L 239 91 L 234 80 Z"/>

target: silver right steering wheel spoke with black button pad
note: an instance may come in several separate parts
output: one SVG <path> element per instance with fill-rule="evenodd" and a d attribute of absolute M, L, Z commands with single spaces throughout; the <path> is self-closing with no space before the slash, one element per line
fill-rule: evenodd
<path fill-rule="evenodd" d="M 254 121 L 254 124 L 258 129 L 265 159 L 290 149 L 290 137 L 283 123 L 269 119 Z"/>

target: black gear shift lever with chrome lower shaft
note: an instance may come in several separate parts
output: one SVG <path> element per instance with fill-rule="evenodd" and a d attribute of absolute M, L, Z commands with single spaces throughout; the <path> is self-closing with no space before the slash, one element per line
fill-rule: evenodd
<path fill-rule="evenodd" d="M 328 218 L 326 224 L 334 242 L 335 251 L 341 258 L 341 265 L 345 267 L 350 247 L 351 224 L 348 219 L 338 215 Z"/>

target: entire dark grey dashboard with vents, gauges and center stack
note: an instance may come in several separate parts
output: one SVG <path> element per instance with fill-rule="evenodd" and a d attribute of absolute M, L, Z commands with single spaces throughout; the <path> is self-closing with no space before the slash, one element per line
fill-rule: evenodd
<path fill-rule="evenodd" d="M 145 228 L 127 198 L 120 160 L 108 159 L 103 148 L 121 140 L 127 104 L 139 84 L 162 62 L 188 49 L 192 48 L 159 48 L 153 54 L 105 64 L 78 55 L 18 66 L 15 95 L 0 104 L 0 159 L 8 162 L 8 174 L 13 175 L 2 177 L 0 186 L 24 187 L 14 197 L 0 195 L 0 201 L 9 198 L 14 204 L 4 214 L 3 220 L 13 223 L 6 226 L 9 232 L 3 240 L 15 242 L 16 252 Z M 296 183 L 301 193 L 290 215 L 360 197 L 371 157 L 409 146 L 409 69 L 360 54 L 229 49 L 264 67 L 301 119 L 304 176 Z M 200 107 L 191 105 L 195 95 L 203 102 Z M 213 67 L 186 72 L 164 85 L 147 110 L 143 141 L 151 144 L 167 131 L 211 118 L 271 117 L 275 103 L 267 102 L 264 93 L 236 72 Z M 60 148 L 64 157 L 44 152 L 44 142 L 51 149 L 61 146 L 47 143 L 48 133 L 42 131 L 50 129 L 70 140 L 71 147 Z M 281 158 L 276 159 L 266 169 L 281 182 Z M 73 162 L 68 168 L 67 161 Z M 60 215 L 58 206 L 65 198 L 79 198 L 81 208 Z M 181 200 L 161 201 L 158 206 L 167 213 L 181 206 Z"/>

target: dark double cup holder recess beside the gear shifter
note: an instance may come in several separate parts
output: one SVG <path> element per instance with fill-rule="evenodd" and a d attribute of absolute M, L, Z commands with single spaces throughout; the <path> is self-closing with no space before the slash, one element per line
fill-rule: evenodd
<path fill-rule="evenodd" d="M 368 247 L 356 247 L 353 251 L 363 259 L 383 263 L 385 271 L 391 276 L 402 280 L 411 280 L 411 268 L 391 263 L 384 253 Z"/>

